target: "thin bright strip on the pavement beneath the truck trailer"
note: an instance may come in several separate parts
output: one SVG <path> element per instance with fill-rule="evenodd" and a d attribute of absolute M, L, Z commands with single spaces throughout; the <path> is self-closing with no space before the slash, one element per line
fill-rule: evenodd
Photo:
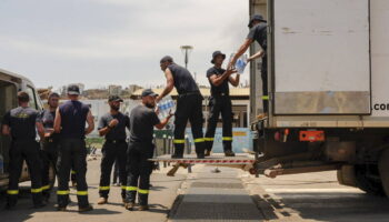
<path fill-rule="evenodd" d="M 329 188 L 329 189 L 265 189 L 269 193 L 363 193 L 358 189 Z"/>

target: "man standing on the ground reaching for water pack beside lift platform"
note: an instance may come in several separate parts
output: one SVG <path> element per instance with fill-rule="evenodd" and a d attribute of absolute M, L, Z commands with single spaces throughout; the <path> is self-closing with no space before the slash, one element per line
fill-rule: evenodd
<path fill-rule="evenodd" d="M 142 104 L 132 109 L 130 114 L 130 142 L 128 148 L 128 180 L 126 209 L 132 211 L 138 193 L 139 210 L 148 210 L 150 172 L 153 163 L 153 128 L 163 129 L 172 117 L 171 113 L 160 121 L 154 112 L 156 94 L 150 89 L 142 92 Z"/>

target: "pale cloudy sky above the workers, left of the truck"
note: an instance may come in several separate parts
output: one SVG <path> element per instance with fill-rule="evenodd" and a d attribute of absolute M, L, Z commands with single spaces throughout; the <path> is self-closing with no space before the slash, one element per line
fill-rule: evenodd
<path fill-rule="evenodd" d="M 39 88 L 148 87 L 164 83 L 162 56 L 183 64 L 179 47 L 191 44 L 189 70 L 205 84 L 211 53 L 230 54 L 246 38 L 248 6 L 247 0 L 1 0 L 0 68 Z"/>

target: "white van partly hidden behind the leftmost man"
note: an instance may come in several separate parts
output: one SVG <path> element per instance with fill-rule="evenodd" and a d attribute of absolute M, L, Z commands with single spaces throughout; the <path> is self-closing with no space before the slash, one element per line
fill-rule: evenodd
<path fill-rule="evenodd" d="M 33 83 L 19 74 L 0 69 L 0 125 L 2 119 L 9 110 L 18 107 L 17 93 L 18 91 L 26 91 L 29 93 L 30 107 L 37 110 L 42 110 L 42 102 Z M 0 172 L 0 189 L 7 189 L 8 185 L 8 165 L 9 165 L 9 148 L 10 138 L 0 133 L 0 155 L 3 159 L 3 172 Z M 23 164 L 20 182 L 30 180 L 27 164 Z"/>

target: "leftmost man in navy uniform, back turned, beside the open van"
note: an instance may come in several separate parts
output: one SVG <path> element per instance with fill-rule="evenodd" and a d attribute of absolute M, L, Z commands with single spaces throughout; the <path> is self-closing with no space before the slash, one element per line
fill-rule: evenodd
<path fill-rule="evenodd" d="M 36 141 L 39 128 L 39 112 L 29 108 L 29 94 L 18 92 L 19 107 L 7 112 L 2 122 L 2 133 L 11 137 L 9 151 L 9 185 L 7 190 L 7 209 L 13 209 L 18 201 L 19 178 L 23 160 L 26 160 L 31 176 L 31 194 L 34 208 L 42 208 L 41 162 L 39 143 Z M 38 129 L 41 131 L 41 129 Z"/>

